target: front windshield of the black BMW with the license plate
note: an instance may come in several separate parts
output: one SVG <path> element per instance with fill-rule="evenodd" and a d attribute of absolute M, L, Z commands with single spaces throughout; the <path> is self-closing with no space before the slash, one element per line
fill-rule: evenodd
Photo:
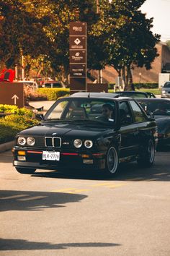
<path fill-rule="evenodd" d="M 44 121 L 81 124 L 115 124 L 115 101 L 91 98 L 66 98 L 57 101 L 45 114 Z"/>

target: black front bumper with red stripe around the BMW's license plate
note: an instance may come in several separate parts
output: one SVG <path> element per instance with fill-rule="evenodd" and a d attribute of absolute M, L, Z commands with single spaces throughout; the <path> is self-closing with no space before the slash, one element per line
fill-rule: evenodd
<path fill-rule="evenodd" d="M 75 152 L 67 151 L 60 152 L 59 161 L 42 160 L 42 152 L 46 149 L 30 149 L 30 148 L 13 148 L 13 166 L 19 168 L 36 168 L 56 170 L 58 168 L 90 168 L 104 169 L 105 168 L 105 152 Z M 49 151 L 49 150 L 48 150 Z M 50 150 L 58 151 L 58 150 Z M 20 155 L 22 152 L 22 155 Z M 19 160 L 19 156 L 24 156 L 25 160 Z"/>

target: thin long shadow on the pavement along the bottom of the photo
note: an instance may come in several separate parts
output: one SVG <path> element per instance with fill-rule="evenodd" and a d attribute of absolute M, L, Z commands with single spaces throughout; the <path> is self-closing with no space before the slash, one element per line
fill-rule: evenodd
<path fill-rule="evenodd" d="M 1 251 L 24 249 L 68 249 L 69 247 L 116 247 L 120 245 L 121 244 L 101 242 L 51 244 L 48 242 L 30 242 L 24 239 L 0 239 Z"/>

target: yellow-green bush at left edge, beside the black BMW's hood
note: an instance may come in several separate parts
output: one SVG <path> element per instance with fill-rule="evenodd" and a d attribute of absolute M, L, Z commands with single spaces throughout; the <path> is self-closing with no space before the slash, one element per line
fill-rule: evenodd
<path fill-rule="evenodd" d="M 8 114 L 0 118 L 0 144 L 14 140 L 19 131 L 39 123 L 32 110 L 27 108 L 0 104 L 0 112 Z"/>

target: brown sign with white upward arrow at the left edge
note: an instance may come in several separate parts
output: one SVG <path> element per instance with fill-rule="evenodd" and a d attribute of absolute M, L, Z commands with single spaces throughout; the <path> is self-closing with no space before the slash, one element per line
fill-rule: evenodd
<path fill-rule="evenodd" d="M 24 106 L 22 82 L 0 82 L 0 104 Z"/>

